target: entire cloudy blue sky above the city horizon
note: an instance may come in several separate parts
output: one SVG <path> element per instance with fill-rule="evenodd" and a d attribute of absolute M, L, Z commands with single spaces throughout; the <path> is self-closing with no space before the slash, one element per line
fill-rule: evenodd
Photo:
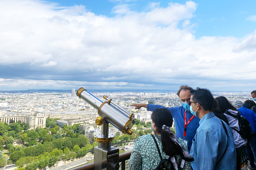
<path fill-rule="evenodd" d="M 255 6 L 0 0 L 0 89 L 256 90 Z"/>

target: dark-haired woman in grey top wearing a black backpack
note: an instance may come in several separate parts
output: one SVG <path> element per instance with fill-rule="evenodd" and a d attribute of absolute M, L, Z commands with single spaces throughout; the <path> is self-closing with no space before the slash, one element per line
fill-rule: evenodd
<path fill-rule="evenodd" d="M 240 130 L 238 125 L 238 119 L 230 116 L 230 114 L 238 116 L 239 112 L 224 96 L 220 96 L 215 99 L 219 103 L 220 111 L 224 113 L 224 115 L 227 117 L 229 126 L 233 130 L 234 143 L 236 148 L 236 169 L 240 170 L 241 154 L 242 151 L 245 150 L 247 140 L 242 138 L 241 135 L 234 130 L 234 128 L 237 129 L 238 131 Z"/>

